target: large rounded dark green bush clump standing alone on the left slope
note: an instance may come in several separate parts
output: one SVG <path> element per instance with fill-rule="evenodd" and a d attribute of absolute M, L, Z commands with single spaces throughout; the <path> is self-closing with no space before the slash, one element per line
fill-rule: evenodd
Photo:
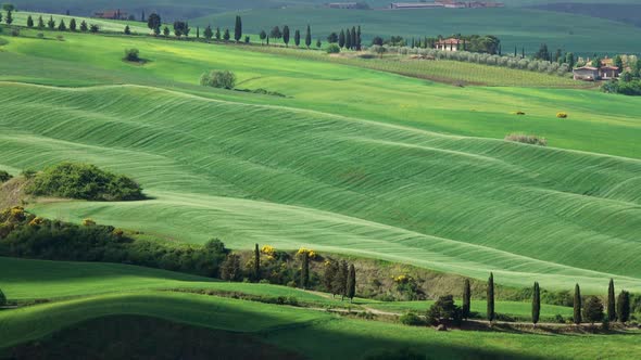
<path fill-rule="evenodd" d="M 30 194 L 90 201 L 144 198 L 134 180 L 99 169 L 95 165 L 63 163 L 48 167 L 26 188 Z"/>

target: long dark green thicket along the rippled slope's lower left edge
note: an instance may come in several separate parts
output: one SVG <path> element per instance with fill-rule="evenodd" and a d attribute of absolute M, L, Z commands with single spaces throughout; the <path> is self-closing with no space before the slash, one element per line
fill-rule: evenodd
<path fill-rule="evenodd" d="M 100 261 L 181 271 L 203 277 L 218 277 L 227 249 L 219 240 L 203 246 L 136 240 L 108 226 L 78 226 L 37 219 L 24 213 L 10 218 L 0 213 L 0 256 L 64 260 Z"/>

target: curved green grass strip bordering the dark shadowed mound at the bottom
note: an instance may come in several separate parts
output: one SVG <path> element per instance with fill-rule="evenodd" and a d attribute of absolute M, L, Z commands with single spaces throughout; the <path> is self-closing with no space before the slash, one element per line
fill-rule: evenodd
<path fill-rule="evenodd" d="M 640 349 L 630 335 L 528 335 L 448 332 L 338 319 L 324 312 L 191 294 L 110 295 L 0 312 L 3 347 L 109 316 L 147 316 L 197 326 L 256 334 L 312 359 L 357 359 L 412 347 L 437 358 L 613 358 Z M 366 332 L 364 332 L 366 329 Z M 340 344 L 340 346 L 327 346 Z"/>

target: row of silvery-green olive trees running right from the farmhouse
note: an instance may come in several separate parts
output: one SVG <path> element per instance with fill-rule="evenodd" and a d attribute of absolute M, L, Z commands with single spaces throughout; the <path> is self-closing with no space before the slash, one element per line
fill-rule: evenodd
<path fill-rule="evenodd" d="M 570 72 L 568 64 L 560 64 L 535 59 L 521 59 L 520 56 L 501 56 L 468 51 L 442 51 L 436 49 L 419 49 L 410 47 L 372 46 L 369 50 L 374 53 L 392 53 L 399 55 L 420 55 L 432 59 L 453 60 L 460 62 L 477 63 L 492 66 L 517 68 L 523 70 L 538 72 L 550 75 L 567 76 Z"/>

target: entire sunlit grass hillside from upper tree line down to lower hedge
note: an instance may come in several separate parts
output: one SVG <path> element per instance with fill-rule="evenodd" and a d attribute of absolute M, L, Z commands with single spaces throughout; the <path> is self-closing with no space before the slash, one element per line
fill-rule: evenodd
<path fill-rule="evenodd" d="M 580 282 L 602 293 L 614 277 L 639 288 L 639 99 L 462 89 L 234 47 L 9 40 L 0 56 L 43 66 L 3 62 L 4 80 L 60 85 L 47 66 L 76 66 L 87 85 L 177 90 L 0 85 L 3 168 L 74 158 L 130 175 L 154 197 L 30 206 L 38 214 L 186 242 L 215 235 L 234 248 L 305 245 L 478 279 L 494 271 L 506 285 Z M 128 47 L 151 62 L 122 62 Z M 235 70 L 239 88 L 290 98 L 193 87 L 209 68 Z M 570 118 L 556 119 L 557 111 Z M 477 138 L 513 131 L 593 153 Z"/>

